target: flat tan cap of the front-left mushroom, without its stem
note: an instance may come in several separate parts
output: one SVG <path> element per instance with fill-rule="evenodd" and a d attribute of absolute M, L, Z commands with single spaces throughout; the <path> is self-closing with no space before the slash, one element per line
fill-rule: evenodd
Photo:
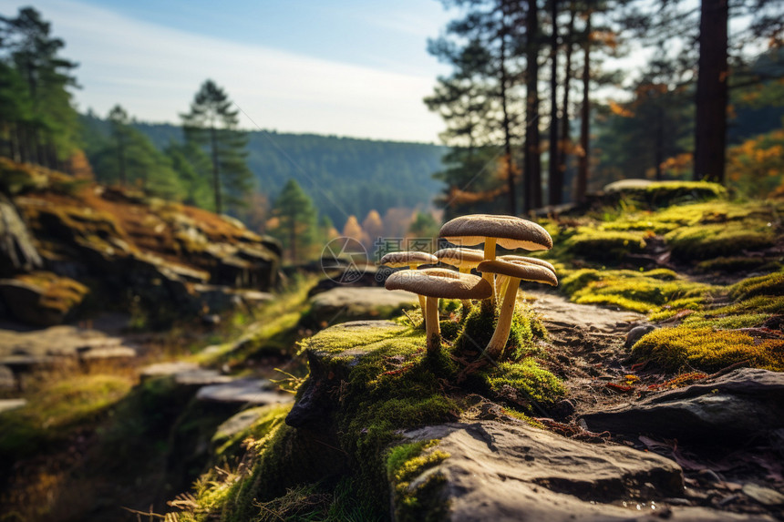
<path fill-rule="evenodd" d="M 396 271 L 384 286 L 446 299 L 487 299 L 492 294 L 490 283 L 477 275 L 439 268 Z"/>

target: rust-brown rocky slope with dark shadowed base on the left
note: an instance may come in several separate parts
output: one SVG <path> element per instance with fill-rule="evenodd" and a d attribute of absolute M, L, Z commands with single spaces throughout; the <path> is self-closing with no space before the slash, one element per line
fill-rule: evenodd
<path fill-rule="evenodd" d="M 98 301 L 111 296 L 113 306 L 138 306 L 163 323 L 174 314 L 252 302 L 258 296 L 243 300 L 231 291 L 274 284 L 280 244 L 238 220 L 7 160 L 0 178 L 13 181 L 0 184 L 8 194 L 0 195 L 0 277 L 43 267 L 88 283 Z M 35 302 L 34 294 L 25 295 Z M 16 300 L 5 301 L 16 308 Z M 36 325 L 58 322 L 44 312 L 12 312 Z"/>

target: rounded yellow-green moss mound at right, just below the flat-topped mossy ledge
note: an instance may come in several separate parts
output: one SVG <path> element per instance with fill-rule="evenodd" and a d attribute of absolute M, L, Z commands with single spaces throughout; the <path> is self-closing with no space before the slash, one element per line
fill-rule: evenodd
<path fill-rule="evenodd" d="M 773 246 L 776 236 L 765 224 L 733 222 L 698 224 L 665 235 L 673 255 L 680 259 L 707 259 Z"/>

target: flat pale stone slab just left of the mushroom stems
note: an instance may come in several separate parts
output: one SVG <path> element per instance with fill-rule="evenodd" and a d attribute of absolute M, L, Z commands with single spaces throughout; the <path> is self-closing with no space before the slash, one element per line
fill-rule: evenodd
<path fill-rule="evenodd" d="M 312 313 L 319 324 L 386 319 L 404 308 L 413 308 L 418 297 L 401 290 L 378 287 L 338 286 L 311 298 Z"/>

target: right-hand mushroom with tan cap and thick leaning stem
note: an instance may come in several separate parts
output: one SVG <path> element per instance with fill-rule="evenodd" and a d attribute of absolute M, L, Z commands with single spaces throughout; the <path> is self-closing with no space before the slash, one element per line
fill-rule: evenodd
<path fill-rule="evenodd" d="M 509 340 L 511 319 L 514 315 L 514 305 L 520 281 L 536 281 L 552 286 L 558 286 L 558 278 L 550 269 L 543 266 L 512 261 L 482 261 L 477 267 L 482 274 L 497 274 L 509 278 L 503 302 L 500 306 L 498 323 L 493 332 L 490 343 L 485 348 L 485 353 L 492 359 L 498 359 L 503 353 L 503 347 Z"/>

